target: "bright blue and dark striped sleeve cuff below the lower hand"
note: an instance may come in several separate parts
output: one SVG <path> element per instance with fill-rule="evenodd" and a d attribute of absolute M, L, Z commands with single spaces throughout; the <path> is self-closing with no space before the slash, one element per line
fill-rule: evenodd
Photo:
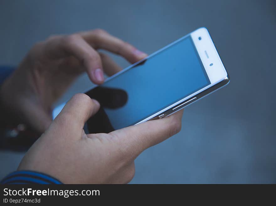
<path fill-rule="evenodd" d="M 16 171 L 7 175 L 1 184 L 62 184 L 49 175 L 34 171 Z"/>

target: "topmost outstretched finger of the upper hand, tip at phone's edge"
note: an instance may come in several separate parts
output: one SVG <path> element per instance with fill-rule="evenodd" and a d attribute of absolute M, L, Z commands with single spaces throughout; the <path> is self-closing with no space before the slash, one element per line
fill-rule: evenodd
<path fill-rule="evenodd" d="M 147 56 L 133 45 L 120 40 L 102 29 L 80 33 L 82 37 L 95 49 L 104 49 L 123 56 L 130 63 L 135 63 Z"/>

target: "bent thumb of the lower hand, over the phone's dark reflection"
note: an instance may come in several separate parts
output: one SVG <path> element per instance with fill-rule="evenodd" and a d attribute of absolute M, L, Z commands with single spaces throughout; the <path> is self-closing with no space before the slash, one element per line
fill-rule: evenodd
<path fill-rule="evenodd" d="M 91 99 L 86 94 L 75 94 L 55 118 L 54 124 L 71 132 L 82 131 L 85 122 L 96 114 L 99 108 L 98 101 Z"/>

